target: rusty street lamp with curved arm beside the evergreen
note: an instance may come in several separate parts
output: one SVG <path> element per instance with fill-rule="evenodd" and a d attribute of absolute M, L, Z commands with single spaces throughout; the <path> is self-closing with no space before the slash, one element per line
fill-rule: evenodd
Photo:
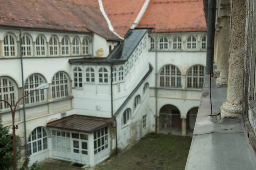
<path fill-rule="evenodd" d="M 49 88 L 49 84 L 48 83 L 43 83 L 39 86 L 36 87 L 36 89 L 32 90 L 31 92 L 29 92 L 28 94 L 22 96 L 19 98 L 19 100 L 16 102 L 14 108 L 12 109 L 12 105 L 7 101 L 7 100 L 2 100 L 0 99 L 0 101 L 4 101 L 5 103 L 7 103 L 9 105 L 9 107 L 11 108 L 12 111 L 12 144 L 13 144 L 13 162 L 14 162 L 14 170 L 17 170 L 17 157 L 16 157 L 16 139 L 15 139 L 15 111 L 16 111 L 16 107 L 18 105 L 18 103 L 20 102 L 21 99 L 23 99 L 24 97 L 28 96 L 31 93 L 34 93 L 36 90 L 42 90 L 42 89 L 48 89 Z M 25 136 L 26 138 L 26 136 Z"/>

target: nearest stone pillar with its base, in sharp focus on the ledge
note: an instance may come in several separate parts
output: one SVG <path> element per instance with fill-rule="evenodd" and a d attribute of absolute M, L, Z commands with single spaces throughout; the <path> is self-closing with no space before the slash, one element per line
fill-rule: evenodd
<path fill-rule="evenodd" d="M 228 68 L 227 100 L 220 107 L 221 118 L 242 114 L 244 38 L 245 38 L 245 0 L 234 0 L 232 4 L 232 26 Z"/>

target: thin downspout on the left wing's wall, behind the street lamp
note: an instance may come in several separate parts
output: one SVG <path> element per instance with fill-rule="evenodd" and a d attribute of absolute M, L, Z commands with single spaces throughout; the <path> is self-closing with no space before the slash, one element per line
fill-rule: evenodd
<path fill-rule="evenodd" d="M 22 29 L 20 28 L 20 65 L 21 65 L 21 79 L 22 79 L 22 96 L 25 95 L 24 93 L 24 74 L 23 74 L 23 58 L 22 58 L 22 46 L 21 46 L 21 32 Z M 25 112 L 25 98 L 22 99 L 23 102 L 23 118 L 24 118 L 24 140 L 25 140 L 25 155 L 28 156 L 27 153 L 27 132 L 26 132 L 26 112 Z"/>

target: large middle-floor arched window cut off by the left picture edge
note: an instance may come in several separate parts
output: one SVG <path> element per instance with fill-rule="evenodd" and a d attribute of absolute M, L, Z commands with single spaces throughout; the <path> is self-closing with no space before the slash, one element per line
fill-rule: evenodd
<path fill-rule="evenodd" d="M 0 77 L 0 99 L 7 100 L 12 106 L 15 105 L 18 96 L 17 86 L 12 79 Z M 0 101 L 0 110 L 10 108 L 9 105 Z"/>

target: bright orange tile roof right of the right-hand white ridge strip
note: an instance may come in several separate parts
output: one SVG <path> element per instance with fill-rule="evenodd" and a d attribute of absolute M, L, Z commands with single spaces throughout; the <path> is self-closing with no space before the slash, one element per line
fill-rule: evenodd
<path fill-rule="evenodd" d="M 207 31 L 203 0 L 150 0 L 137 27 L 152 32 Z"/>

